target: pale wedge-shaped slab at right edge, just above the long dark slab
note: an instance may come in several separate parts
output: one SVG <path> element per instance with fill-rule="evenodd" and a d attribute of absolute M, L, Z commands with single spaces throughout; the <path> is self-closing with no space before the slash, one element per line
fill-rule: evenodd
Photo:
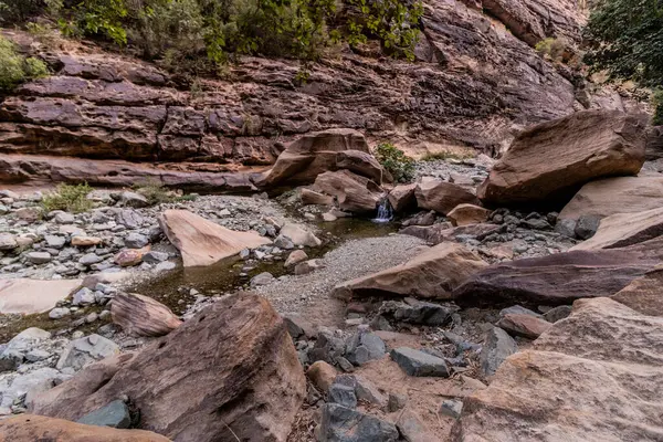
<path fill-rule="evenodd" d="M 571 250 L 617 249 L 663 234 L 663 208 L 636 213 L 617 213 L 601 220 L 597 233 Z"/>

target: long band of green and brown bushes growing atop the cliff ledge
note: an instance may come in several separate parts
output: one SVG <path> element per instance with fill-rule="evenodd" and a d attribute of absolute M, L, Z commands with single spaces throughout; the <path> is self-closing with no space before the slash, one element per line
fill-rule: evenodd
<path fill-rule="evenodd" d="M 176 63 L 194 63 L 201 53 L 215 64 L 239 54 L 312 61 L 329 44 L 368 39 L 389 55 L 413 59 L 423 13 L 418 0 L 31 1 L 65 35 L 102 38 Z"/>

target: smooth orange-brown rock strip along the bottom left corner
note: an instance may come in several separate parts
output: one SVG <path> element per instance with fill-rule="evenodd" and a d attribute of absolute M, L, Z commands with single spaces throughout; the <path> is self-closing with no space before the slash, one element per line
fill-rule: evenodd
<path fill-rule="evenodd" d="M 63 419 L 20 414 L 0 420 L 0 442 L 170 442 L 144 430 L 117 430 Z"/>

